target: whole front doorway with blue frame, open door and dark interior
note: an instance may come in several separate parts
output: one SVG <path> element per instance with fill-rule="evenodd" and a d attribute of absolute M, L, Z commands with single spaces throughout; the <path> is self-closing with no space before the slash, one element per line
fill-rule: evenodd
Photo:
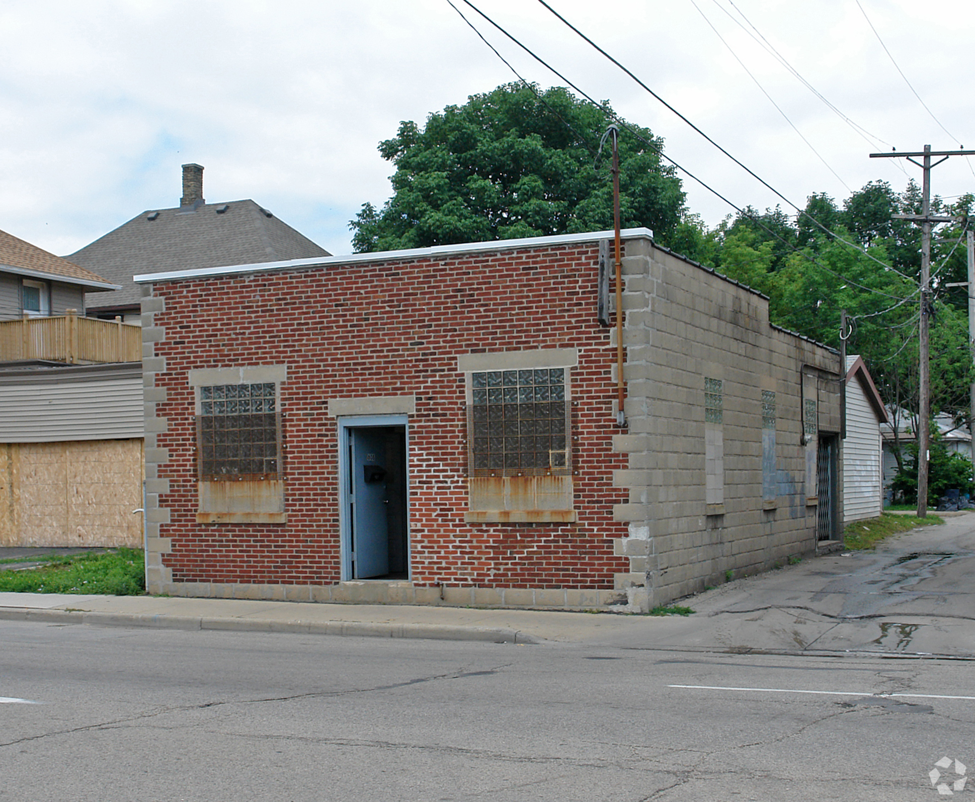
<path fill-rule="evenodd" d="M 342 579 L 409 579 L 407 427 L 398 416 L 341 428 Z"/>

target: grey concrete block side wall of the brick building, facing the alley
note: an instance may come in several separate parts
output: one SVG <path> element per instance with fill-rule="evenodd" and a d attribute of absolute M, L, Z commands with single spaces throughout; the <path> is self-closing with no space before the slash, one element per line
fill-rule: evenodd
<path fill-rule="evenodd" d="M 631 602 L 666 603 L 789 556 L 815 551 L 806 505 L 803 372 L 814 376 L 822 432 L 839 432 L 839 355 L 769 325 L 767 299 L 649 241 L 627 243 L 628 432 L 614 447 L 629 467 L 617 578 Z M 705 377 L 723 389 L 722 505 L 705 499 Z M 762 391 L 775 393 L 778 497 L 762 500 Z M 814 492 L 813 492 L 814 494 Z"/>

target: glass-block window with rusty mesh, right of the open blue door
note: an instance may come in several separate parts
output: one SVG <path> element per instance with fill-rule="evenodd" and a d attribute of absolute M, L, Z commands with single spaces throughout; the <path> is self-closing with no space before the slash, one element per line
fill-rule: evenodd
<path fill-rule="evenodd" d="M 570 473 L 564 367 L 472 373 L 471 393 L 471 476 Z"/>

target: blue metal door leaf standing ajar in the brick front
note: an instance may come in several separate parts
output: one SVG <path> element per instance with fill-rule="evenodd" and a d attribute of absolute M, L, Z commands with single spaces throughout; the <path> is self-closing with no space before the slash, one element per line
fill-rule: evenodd
<path fill-rule="evenodd" d="M 386 485 L 386 433 L 352 429 L 351 481 L 352 577 L 369 579 L 389 573 L 389 521 Z"/>

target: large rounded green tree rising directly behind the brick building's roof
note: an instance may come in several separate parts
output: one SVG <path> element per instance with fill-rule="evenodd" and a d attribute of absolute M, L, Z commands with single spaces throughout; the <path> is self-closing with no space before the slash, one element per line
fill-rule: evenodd
<path fill-rule="evenodd" d="M 610 152 L 598 161 L 612 118 L 567 90 L 508 84 L 431 114 L 422 129 L 403 122 L 379 144 L 396 166 L 393 196 L 364 204 L 350 222 L 357 252 L 424 248 L 612 228 Z M 694 242 L 663 140 L 620 128 L 620 208 L 624 228 L 645 226 L 667 245 Z M 682 221 L 686 223 L 679 230 Z M 702 242 L 703 245 L 703 242 Z M 703 252 L 703 251 L 702 251 Z M 693 257 L 693 256 L 692 256 Z"/>

